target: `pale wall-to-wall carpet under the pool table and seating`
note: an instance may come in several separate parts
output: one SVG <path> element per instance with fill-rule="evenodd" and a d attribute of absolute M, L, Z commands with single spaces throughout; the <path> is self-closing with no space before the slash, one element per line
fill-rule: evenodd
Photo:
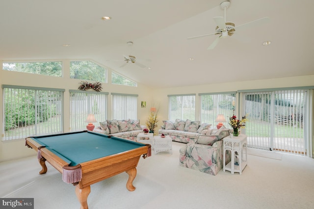
<path fill-rule="evenodd" d="M 222 170 L 212 176 L 179 165 L 179 149 L 141 158 L 133 182 L 121 173 L 91 185 L 89 209 L 312 209 L 314 208 L 314 159 L 280 154 L 281 159 L 260 157 L 248 151 L 242 175 Z M 35 153 L 34 153 L 35 154 Z M 78 209 L 75 187 L 47 163 L 39 175 L 36 158 L 0 163 L 0 196 L 34 198 L 35 209 Z"/>

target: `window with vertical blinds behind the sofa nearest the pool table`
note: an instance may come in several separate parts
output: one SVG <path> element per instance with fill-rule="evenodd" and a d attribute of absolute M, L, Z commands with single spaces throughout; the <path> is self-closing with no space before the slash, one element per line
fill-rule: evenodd
<path fill-rule="evenodd" d="M 112 119 L 137 119 L 137 97 L 134 94 L 117 94 L 112 95 Z"/>

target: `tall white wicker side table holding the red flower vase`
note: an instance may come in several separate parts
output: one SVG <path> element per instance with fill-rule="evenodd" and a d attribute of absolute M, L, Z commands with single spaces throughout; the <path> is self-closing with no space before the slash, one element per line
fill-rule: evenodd
<path fill-rule="evenodd" d="M 240 134 L 238 136 L 226 136 L 224 141 L 224 158 L 223 158 L 223 170 L 224 172 L 231 171 L 232 174 L 239 172 L 242 174 L 243 169 L 247 165 L 247 136 Z M 226 150 L 231 151 L 231 162 L 226 165 Z M 235 159 L 235 152 L 237 159 Z"/>

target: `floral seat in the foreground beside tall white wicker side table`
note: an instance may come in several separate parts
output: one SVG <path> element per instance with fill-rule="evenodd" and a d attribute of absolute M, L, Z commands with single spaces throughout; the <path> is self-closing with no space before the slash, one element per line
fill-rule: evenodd
<path fill-rule="evenodd" d="M 223 168 L 223 138 L 231 133 L 221 127 L 210 131 L 211 135 L 201 135 L 196 141 L 190 141 L 180 149 L 180 165 L 211 175 Z M 226 164 L 231 161 L 231 152 L 226 152 Z"/>

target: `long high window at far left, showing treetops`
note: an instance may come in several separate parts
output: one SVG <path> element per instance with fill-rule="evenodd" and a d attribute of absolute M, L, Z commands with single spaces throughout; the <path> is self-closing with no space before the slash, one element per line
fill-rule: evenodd
<path fill-rule="evenodd" d="M 46 76 L 62 76 L 62 62 L 3 62 L 3 70 Z"/>

